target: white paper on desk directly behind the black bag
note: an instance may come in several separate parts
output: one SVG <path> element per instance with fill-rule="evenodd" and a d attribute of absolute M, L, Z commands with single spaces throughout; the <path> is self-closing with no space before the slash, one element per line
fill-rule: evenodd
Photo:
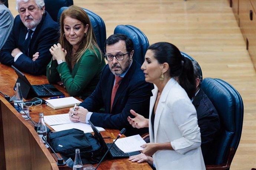
<path fill-rule="evenodd" d="M 93 132 L 91 126 L 89 124 L 86 123 L 81 123 L 81 122 L 76 122 L 76 123 L 68 123 L 68 124 L 62 124 L 62 125 L 54 125 L 54 126 L 50 126 L 52 129 L 54 129 L 55 131 L 61 131 L 61 130 L 67 130 L 67 129 L 79 129 L 79 130 L 83 130 L 83 132 L 85 133 L 90 133 Z M 96 127 L 99 131 L 104 131 L 104 128 L 101 127 Z"/>

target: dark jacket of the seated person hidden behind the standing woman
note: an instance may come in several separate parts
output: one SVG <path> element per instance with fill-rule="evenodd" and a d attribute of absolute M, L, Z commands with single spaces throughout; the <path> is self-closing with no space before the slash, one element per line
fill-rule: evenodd
<path fill-rule="evenodd" d="M 207 162 L 209 148 L 220 131 L 220 119 L 216 109 L 210 99 L 199 90 L 193 100 L 193 105 L 197 111 L 198 126 L 201 133 L 201 150 L 204 157 L 204 162 Z"/>

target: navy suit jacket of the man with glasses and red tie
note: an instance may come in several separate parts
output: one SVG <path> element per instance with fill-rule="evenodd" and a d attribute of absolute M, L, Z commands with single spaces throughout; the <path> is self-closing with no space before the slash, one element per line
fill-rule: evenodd
<path fill-rule="evenodd" d="M 142 135 L 148 132 L 148 128 L 132 128 L 127 120 L 128 116 L 134 117 L 130 113 L 131 109 L 145 118 L 149 116 L 150 96 L 154 86 L 145 82 L 144 73 L 140 68 L 141 65 L 133 60 L 119 84 L 111 111 L 111 93 L 115 76 L 108 64 L 105 66 L 95 91 L 79 105 L 93 112 L 90 118 L 93 125 L 119 130 L 126 128 L 126 136 Z M 103 106 L 105 106 L 105 113 L 98 113 L 97 110 Z"/>

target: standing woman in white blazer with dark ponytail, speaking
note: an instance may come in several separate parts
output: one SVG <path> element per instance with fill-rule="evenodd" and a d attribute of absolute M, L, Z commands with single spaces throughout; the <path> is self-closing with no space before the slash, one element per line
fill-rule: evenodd
<path fill-rule="evenodd" d="M 155 84 L 150 119 L 133 110 L 135 118 L 128 117 L 134 127 L 149 127 L 150 143 L 142 145 L 142 153 L 153 156 L 156 169 L 205 169 L 196 109 L 190 100 L 196 92 L 192 62 L 173 44 L 155 43 L 141 69 L 145 81 Z"/>

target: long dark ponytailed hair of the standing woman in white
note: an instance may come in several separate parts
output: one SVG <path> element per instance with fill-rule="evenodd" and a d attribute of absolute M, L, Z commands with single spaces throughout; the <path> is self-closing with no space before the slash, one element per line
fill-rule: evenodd
<path fill-rule="evenodd" d="M 178 83 L 191 99 L 196 93 L 194 68 L 190 59 L 181 55 L 180 50 L 171 43 L 160 42 L 150 45 L 148 50 L 154 52 L 158 63 L 167 62 L 171 77 L 178 77 Z"/>

